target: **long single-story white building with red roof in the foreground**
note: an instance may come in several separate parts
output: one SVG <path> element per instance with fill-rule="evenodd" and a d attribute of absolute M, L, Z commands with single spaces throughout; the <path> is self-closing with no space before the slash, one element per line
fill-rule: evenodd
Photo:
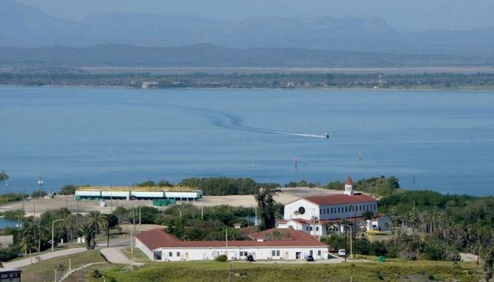
<path fill-rule="evenodd" d="M 252 240 L 182 241 L 162 229 L 145 231 L 135 236 L 135 247 L 153 261 L 210 260 L 218 255 L 228 259 L 314 259 L 328 257 L 328 246 L 313 236 L 293 229 L 273 228 L 253 233 Z"/>

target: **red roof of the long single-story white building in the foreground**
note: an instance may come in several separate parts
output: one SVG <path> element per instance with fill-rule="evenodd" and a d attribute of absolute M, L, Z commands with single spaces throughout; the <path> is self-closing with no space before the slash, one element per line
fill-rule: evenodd
<path fill-rule="evenodd" d="M 272 234 L 275 230 L 282 233 L 282 238 L 280 240 L 273 240 L 273 235 L 271 235 L 271 237 L 267 236 L 268 233 L 271 232 Z M 256 239 L 263 238 L 265 240 L 261 242 L 258 240 L 228 241 L 228 247 L 327 247 L 327 245 L 320 243 L 311 235 L 291 229 L 273 228 L 260 233 L 251 234 L 251 237 Z M 140 242 L 146 245 L 150 250 L 155 250 L 159 247 L 226 247 L 225 241 L 181 241 L 179 238 L 166 233 L 162 229 L 145 231 L 135 235 L 135 238 L 140 240 Z"/>

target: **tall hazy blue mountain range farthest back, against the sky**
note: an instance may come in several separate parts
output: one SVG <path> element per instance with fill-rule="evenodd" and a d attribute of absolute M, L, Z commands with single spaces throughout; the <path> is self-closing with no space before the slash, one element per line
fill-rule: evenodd
<path fill-rule="evenodd" d="M 211 20 L 138 13 L 100 13 L 82 22 L 49 16 L 12 0 L 0 1 L 0 46 L 88 47 L 133 44 L 181 47 L 303 48 L 368 53 L 494 57 L 494 28 L 469 31 L 395 30 L 379 18 Z"/>

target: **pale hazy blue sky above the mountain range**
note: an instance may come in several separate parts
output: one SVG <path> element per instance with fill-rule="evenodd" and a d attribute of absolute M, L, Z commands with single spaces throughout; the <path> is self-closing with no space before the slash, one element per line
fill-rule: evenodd
<path fill-rule="evenodd" d="M 0 0 L 3 1 L 3 0 Z M 162 13 L 205 18 L 379 17 L 401 30 L 494 26 L 494 0 L 18 0 L 63 18 L 92 13 Z"/>

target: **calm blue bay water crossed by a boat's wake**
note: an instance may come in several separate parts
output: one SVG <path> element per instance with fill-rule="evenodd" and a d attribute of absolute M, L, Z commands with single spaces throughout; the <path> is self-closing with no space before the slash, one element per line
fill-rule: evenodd
<path fill-rule="evenodd" d="M 0 87 L 9 191 L 35 190 L 40 176 L 58 190 L 384 175 L 409 189 L 494 195 L 493 129 L 493 92 Z"/>

